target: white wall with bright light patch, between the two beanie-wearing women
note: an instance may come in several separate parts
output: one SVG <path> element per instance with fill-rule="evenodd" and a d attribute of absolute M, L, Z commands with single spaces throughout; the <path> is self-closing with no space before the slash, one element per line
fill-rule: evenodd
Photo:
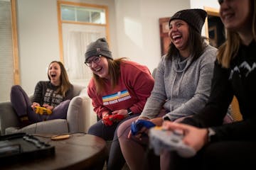
<path fill-rule="evenodd" d="M 151 71 L 161 59 L 159 18 L 189 8 L 188 0 L 116 0 L 118 57 L 129 57 Z"/>

